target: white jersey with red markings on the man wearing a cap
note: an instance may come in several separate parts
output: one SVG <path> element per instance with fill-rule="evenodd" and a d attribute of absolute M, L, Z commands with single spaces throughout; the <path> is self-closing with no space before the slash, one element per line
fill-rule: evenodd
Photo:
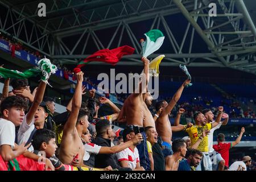
<path fill-rule="evenodd" d="M 129 168 L 135 169 L 137 163 L 139 162 L 139 151 L 136 147 L 134 148 L 134 151 L 131 150 L 130 147 L 128 147 L 125 150 L 117 153 L 117 159 L 118 162 L 121 162 L 123 160 L 128 161 Z"/>

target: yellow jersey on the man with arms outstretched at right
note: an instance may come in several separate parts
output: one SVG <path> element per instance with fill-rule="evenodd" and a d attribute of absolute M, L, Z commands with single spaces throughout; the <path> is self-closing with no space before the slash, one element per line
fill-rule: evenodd
<path fill-rule="evenodd" d="M 203 131 L 212 129 L 212 123 L 207 123 L 204 126 L 199 125 L 193 125 L 186 129 L 186 132 L 189 135 L 189 138 L 191 139 L 191 145 L 195 144 L 199 137 L 202 136 Z M 201 152 L 208 152 L 208 137 L 204 137 L 201 143 L 199 144 L 197 150 L 200 150 Z"/>

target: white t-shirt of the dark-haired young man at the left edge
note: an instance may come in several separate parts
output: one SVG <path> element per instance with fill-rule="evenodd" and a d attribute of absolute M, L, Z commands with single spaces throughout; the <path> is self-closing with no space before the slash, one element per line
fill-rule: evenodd
<path fill-rule="evenodd" d="M 7 144 L 14 148 L 15 142 L 15 126 L 14 123 L 0 118 L 0 146 Z"/>

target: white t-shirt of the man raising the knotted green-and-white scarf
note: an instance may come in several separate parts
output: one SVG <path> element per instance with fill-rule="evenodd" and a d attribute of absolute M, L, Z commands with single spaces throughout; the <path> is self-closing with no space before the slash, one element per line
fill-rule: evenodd
<path fill-rule="evenodd" d="M 24 116 L 24 119 L 22 121 L 22 124 L 19 127 L 18 131 L 18 144 L 22 144 L 23 142 L 27 143 L 28 139 L 30 138 L 30 135 L 32 131 L 35 129 L 35 118 L 33 117 L 30 125 L 27 124 L 27 114 Z M 28 151 L 32 152 L 34 151 L 34 147 L 31 145 L 28 148 Z"/>

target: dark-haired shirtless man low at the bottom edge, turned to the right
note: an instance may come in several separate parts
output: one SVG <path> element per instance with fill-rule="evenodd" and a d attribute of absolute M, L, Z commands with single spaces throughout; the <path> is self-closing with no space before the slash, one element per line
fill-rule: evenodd
<path fill-rule="evenodd" d="M 179 160 L 185 158 L 187 145 L 183 139 L 176 139 L 172 142 L 172 149 L 174 150 L 174 154 L 172 156 L 168 156 L 166 171 L 177 171 L 179 167 Z"/>

